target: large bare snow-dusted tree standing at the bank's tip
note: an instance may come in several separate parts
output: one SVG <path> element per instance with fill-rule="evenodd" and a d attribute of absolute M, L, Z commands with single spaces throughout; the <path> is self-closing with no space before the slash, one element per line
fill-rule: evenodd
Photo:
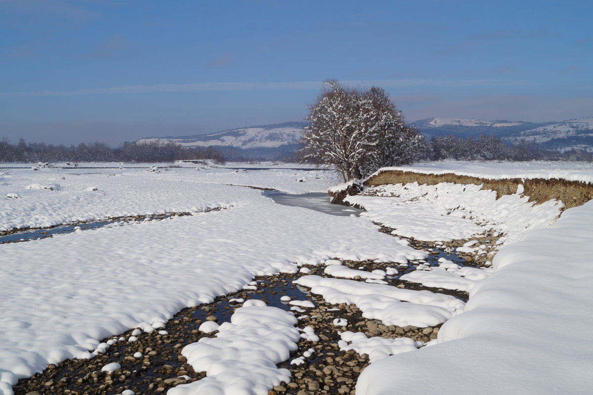
<path fill-rule="evenodd" d="M 335 165 L 345 181 L 380 167 L 412 163 L 422 134 L 406 127 L 384 90 L 355 90 L 333 79 L 325 85 L 310 106 L 304 160 Z"/>

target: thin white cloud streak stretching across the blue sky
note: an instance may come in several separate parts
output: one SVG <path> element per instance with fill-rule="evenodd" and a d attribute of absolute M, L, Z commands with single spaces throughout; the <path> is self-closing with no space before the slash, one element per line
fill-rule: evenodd
<path fill-rule="evenodd" d="M 525 85 L 519 81 L 500 81 L 486 79 L 438 80 L 426 78 L 381 79 L 368 81 L 341 81 L 346 85 L 380 87 L 476 87 L 488 85 Z M 164 93 L 164 92 L 206 92 L 206 91 L 270 91 L 270 90 L 317 90 L 321 81 L 295 82 L 199 82 L 196 84 L 158 84 L 123 85 L 120 87 L 82 89 L 74 91 L 15 91 L 3 92 L 4 96 L 75 96 L 125 93 Z"/>

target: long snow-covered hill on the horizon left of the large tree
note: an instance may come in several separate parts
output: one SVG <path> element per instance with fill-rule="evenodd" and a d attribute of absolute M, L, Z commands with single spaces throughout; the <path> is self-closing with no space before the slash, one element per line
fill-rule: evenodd
<path fill-rule="evenodd" d="M 198 146 L 231 146 L 243 149 L 278 148 L 283 145 L 299 144 L 305 126 L 307 126 L 305 122 L 285 122 L 225 130 L 209 135 L 148 138 L 138 142 L 174 141 L 189 148 Z"/>

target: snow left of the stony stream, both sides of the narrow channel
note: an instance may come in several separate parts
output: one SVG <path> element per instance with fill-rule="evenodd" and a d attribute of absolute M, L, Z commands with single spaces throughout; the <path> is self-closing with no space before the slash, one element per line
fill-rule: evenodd
<path fill-rule="evenodd" d="M 301 265 L 328 259 L 406 262 L 426 256 L 377 232 L 366 219 L 278 205 L 259 190 L 222 185 L 231 177 L 228 169 L 123 170 L 122 177 L 93 170 L 98 174 L 66 174 L 57 191 L 24 188 L 57 171 L 18 169 L 3 177 L 8 186 L 0 188 L 22 186 L 23 195 L 18 205 L 1 200 L 4 228 L 228 208 L 3 244 L 0 372 L 8 384 L 66 358 L 89 358 L 106 337 L 136 327 L 162 329 L 182 308 L 238 291 L 256 275 L 296 273 Z M 249 173 L 247 184 L 310 188 L 286 176 L 274 184 L 282 177 L 267 170 Z M 314 189 L 331 182 L 317 181 Z M 85 192 L 90 184 L 100 190 Z"/>

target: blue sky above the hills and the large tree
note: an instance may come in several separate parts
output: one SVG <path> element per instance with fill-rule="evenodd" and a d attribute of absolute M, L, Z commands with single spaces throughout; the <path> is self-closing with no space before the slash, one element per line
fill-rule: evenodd
<path fill-rule="evenodd" d="M 0 0 L 0 138 L 117 145 L 302 120 L 321 81 L 406 120 L 593 116 L 591 1 Z"/>

